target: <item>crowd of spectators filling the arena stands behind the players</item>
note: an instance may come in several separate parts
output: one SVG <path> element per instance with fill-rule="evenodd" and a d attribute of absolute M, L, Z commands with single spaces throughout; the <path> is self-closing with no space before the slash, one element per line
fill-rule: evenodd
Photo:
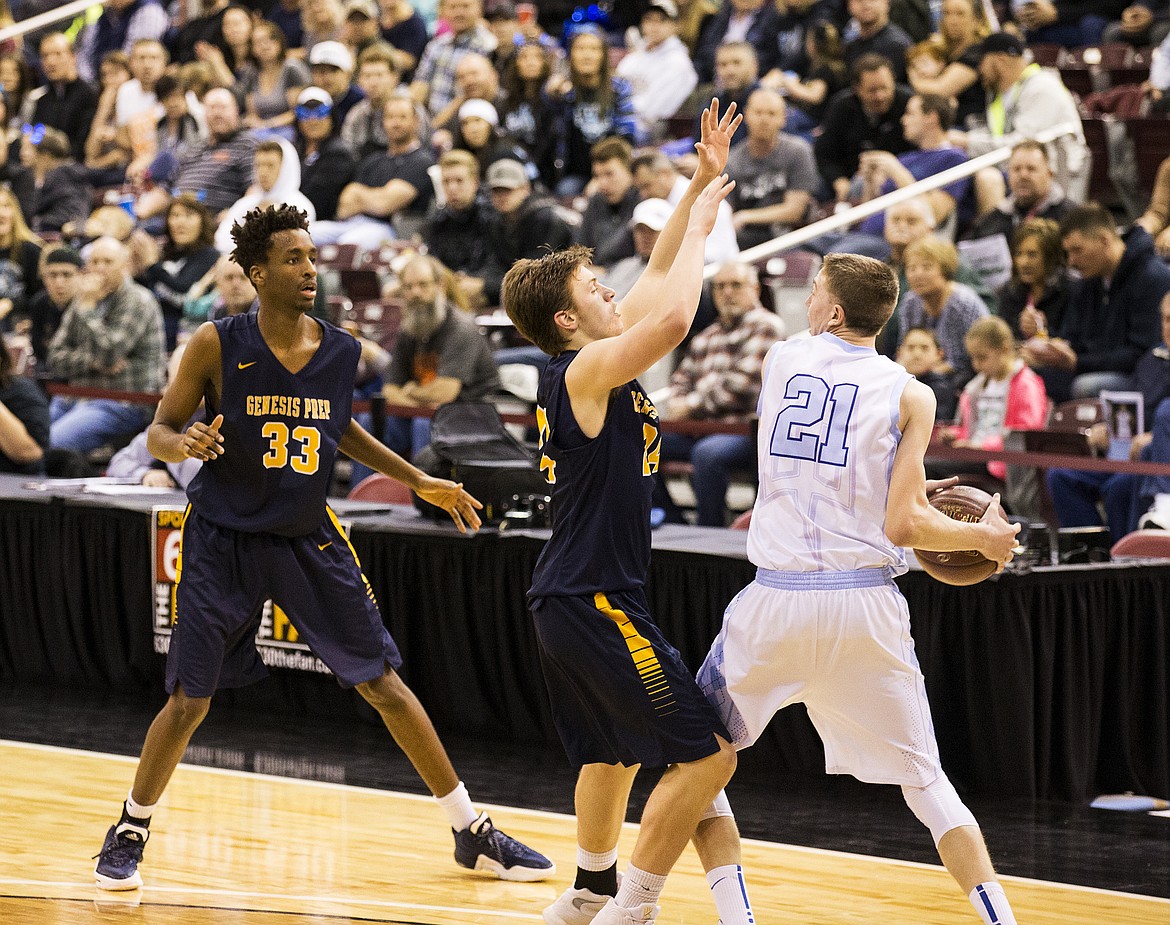
<path fill-rule="evenodd" d="M 1018 424 L 1003 410 L 1009 384 L 1034 385 L 1021 370 L 1060 401 L 1133 386 L 1162 346 L 1170 166 L 1131 227 L 1076 205 L 1090 164 L 1078 101 L 1030 46 L 1158 46 L 1142 88 L 1157 112 L 1165 2 L 1087 14 L 1048 0 L 648 0 L 564 19 L 553 6 L 532 16 L 511 0 L 440 0 L 434 19 L 408 0 L 108 0 L 6 44 L 0 327 L 13 353 L 27 344 L 44 380 L 158 391 L 197 324 L 250 305 L 225 260 L 232 225 L 291 202 L 323 250 L 402 255 L 380 264 L 401 324 L 366 341 L 369 388 L 399 406 L 490 395 L 500 345 L 472 316 L 498 304 L 512 261 L 572 242 L 593 248 L 619 292 L 636 278 L 713 95 L 745 116 L 728 163 L 737 187 L 708 241 L 721 269 L 695 336 L 648 377 L 663 416 L 749 419 L 753 367 L 799 336 L 765 308 L 741 250 L 1003 146 L 1006 168 L 804 247 L 899 270 L 879 347 L 931 384 L 941 421 L 966 415 L 959 440 L 990 446 L 989 421 Z M 1072 131 L 1030 140 L 1062 124 Z M 326 277 L 322 315 L 336 319 L 328 296 L 346 295 L 344 278 Z M 523 347 L 498 359 L 541 363 Z M 0 368 L 0 393 L 29 409 L 21 435 L 9 420 L 21 413 L 0 403 L 5 468 L 117 447 L 145 422 L 145 406 L 58 395 L 42 426 L 16 379 Z M 425 428 L 393 423 L 390 439 L 412 453 Z M 680 439 L 663 453 L 694 465 L 698 522 L 724 523 L 750 440 Z"/>

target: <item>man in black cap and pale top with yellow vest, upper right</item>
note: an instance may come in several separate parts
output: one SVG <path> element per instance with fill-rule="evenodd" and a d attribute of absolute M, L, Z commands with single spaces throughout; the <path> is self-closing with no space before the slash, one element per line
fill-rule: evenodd
<path fill-rule="evenodd" d="M 951 131 L 951 144 L 973 158 L 997 147 L 1014 147 L 1046 129 L 1068 126 L 1069 133 L 1049 144 L 1048 152 L 1065 195 L 1083 202 L 1092 160 L 1076 101 L 1060 74 L 1034 63 L 1023 40 L 1007 33 L 989 35 L 978 54 L 979 77 L 987 90 L 986 120 L 966 132 Z"/>

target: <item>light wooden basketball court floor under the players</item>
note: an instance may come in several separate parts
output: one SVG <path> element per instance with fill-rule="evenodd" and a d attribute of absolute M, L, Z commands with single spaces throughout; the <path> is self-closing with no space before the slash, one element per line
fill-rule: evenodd
<path fill-rule="evenodd" d="M 135 760 L 0 740 L 0 923 L 4 925 L 528 925 L 571 881 L 570 816 L 489 807 L 552 857 L 546 883 L 503 883 L 452 860 L 427 798 L 239 771 L 179 767 L 152 827 L 146 885 L 104 893 L 90 856 Z M 626 826 L 624 865 L 636 835 Z M 760 925 L 970 925 L 975 913 L 940 867 L 762 841 L 744 843 Z M 1053 925 L 1166 925 L 1170 900 L 1005 877 L 1017 918 Z M 667 883 L 661 925 L 715 925 L 688 849 Z"/>

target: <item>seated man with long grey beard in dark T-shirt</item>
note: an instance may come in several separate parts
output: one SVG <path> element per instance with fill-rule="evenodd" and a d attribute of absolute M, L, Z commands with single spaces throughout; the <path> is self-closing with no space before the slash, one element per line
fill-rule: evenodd
<path fill-rule="evenodd" d="M 385 374 L 383 394 L 390 405 L 438 408 L 480 401 L 500 386 L 487 339 L 447 302 L 442 269 L 434 257 L 418 256 L 399 274 L 406 304 Z M 384 442 L 400 456 L 411 456 L 431 442 L 431 419 L 387 417 Z"/>

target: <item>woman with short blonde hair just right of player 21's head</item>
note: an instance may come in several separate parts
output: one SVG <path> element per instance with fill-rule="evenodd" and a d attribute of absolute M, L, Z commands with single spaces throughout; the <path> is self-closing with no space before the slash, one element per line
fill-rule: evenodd
<path fill-rule="evenodd" d="M 975 370 L 966 352 L 966 332 L 990 312 L 975 290 L 955 281 L 958 251 L 934 235 L 920 237 L 906 248 L 906 281 L 910 291 L 899 309 L 901 340 L 911 327 L 935 332 L 943 350 L 936 372 L 951 375 L 955 388 L 971 379 Z"/>

